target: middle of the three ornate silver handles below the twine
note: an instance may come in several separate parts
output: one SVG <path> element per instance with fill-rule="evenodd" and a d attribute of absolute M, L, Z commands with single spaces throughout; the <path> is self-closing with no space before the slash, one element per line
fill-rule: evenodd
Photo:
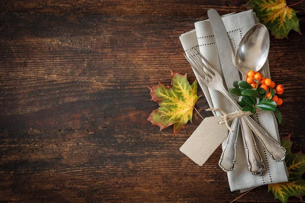
<path fill-rule="evenodd" d="M 252 131 L 244 119 L 241 119 L 241 131 L 248 161 L 248 170 L 253 175 L 261 175 L 265 170 L 264 162 L 259 154 Z"/>

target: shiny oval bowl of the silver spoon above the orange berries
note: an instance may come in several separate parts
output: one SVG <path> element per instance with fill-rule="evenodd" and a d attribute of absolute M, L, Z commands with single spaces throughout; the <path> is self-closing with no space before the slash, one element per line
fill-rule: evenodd
<path fill-rule="evenodd" d="M 243 76 L 250 70 L 258 72 L 265 64 L 270 47 L 265 25 L 256 24 L 242 37 L 235 53 L 235 65 Z"/>

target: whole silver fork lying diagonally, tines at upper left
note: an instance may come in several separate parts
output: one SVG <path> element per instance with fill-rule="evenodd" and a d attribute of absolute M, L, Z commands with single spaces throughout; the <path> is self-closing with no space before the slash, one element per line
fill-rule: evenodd
<path fill-rule="evenodd" d="M 220 74 L 210 65 L 207 59 L 200 53 L 199 50 L 193 48 L 190 50 L 190 57 L 186 56 L 194 71 L 196 71 L 200 79 L 211 89 L 220 91 L 235 107 L 237 111 L 241 108 L 236 101 L 231 97 L 226 88 Z M 269 136 L 269 134 L 262 129 L 250 116 L 241 117 L 247 122 L 249 127 L 255 133 L 256 137 L 263 144 L 267 153 L 275 161 L 283 161 L 286 156 L 286 150 L 276 140 Z"/>

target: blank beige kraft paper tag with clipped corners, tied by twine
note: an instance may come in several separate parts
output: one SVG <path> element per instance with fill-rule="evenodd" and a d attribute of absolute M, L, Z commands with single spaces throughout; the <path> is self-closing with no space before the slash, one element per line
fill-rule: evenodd
<path fill-rule="evenodd" d="M 202 166 L 228 136 L 226 124 L 219 124 L 221 120 L 218 116 L 205 118 L 180 151 Z"/>

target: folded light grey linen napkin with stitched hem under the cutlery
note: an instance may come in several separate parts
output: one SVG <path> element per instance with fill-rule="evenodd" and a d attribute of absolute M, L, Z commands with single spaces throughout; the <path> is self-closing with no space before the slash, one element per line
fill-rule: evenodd
<path fill-rule="evenodd" d="M 235 51 L 237 48 L 243 35 L 245 35 L 245 33 L 253 25 L 259 23 L 259 20 L 256 18 L 256 14 L 253 13 L 252 10 L 227 14 L 222 16 L 222 20 L 228 32 L 233 51 Z M 223 75 L 215 38 L 208 19 L 196 22 L 195 29 L 181 35 L 180 41 L 185 51 L 194 46 L 199 47 L 200 52 L 206 57 L 211 65 L 213 65 L 215 69 L 220 72 L 221 75 Z M 237 70 L 234 71 L 238 73 Z M 270 78 L 268 61 L 266 61 L 260 72 L 262 73 L 262 76 Z M 209 89 L 197 75 L 196 78 L 203 90 L 210 108 L 221 108 L 226 113 L 235 111 L 235 108 L 220 92 Z M 235 77 L 231 78 L 232 83 L 238 80 L 240 80 L 238 74 L 235 74 Z M 220 112 L 213 113 L 214 115 L 221 116 Z M 254 116 L 254 120 L 263 129 L 265 129 L 270 136 L 280 142 L 278 125 L 273 113 L 265 111 L 259 112 Z M 273 161 L 266 153 L 259 140 L 257 138 L 255 139 L 265 164 L 264 174 L 263 176 L 254 176 L 249 173 L 242 137 L 241 133 L 239 133 L 236 147 L 236 166 L 233 171 L 227 173 L 231 191 L 240 190 L 243 192 L 260 185 L 288 181 L 288 173 L 285 162 Z M 224 144 L 225 141 L 223 142 L 223 145 Z"/>

